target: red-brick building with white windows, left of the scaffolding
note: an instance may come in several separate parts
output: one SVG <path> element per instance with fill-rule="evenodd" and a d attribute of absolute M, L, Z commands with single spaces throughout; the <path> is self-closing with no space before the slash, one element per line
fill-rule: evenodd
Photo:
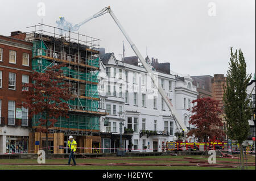
<path fill-rule="evenodd" d="M 23 83 L 31 81 L 32 43 L 0 35 L 0 153 L 26 153 L 31 123 L 23 102 Z"/>

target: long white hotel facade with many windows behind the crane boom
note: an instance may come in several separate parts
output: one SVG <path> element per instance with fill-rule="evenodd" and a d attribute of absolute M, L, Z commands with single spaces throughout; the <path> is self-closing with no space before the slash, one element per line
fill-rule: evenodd
<path fill-rule="evenodd" d="M 170 110 L 155 86 L 151 78 L 146 74 L 142 66 L 125 64 L 117 61 L 114 54 L 109 54 L 108 60 L 101 62 L 99 91 L 101 96 L 101 108 L 106 109 L 109 115 L 109 126 L 104 126 L 104 117 L 101 117 L 100 131 L 120 134 L 120 118 L 118 112 L 125 112 L 123 117 L 123 129 L 133 129 L 133 151 L 162 151 L 162 146 L 167 141 L 174 141 L 176 124 Z M 114 77 L 115 75 L 115 77 Z M 189 116 L 188 107 L 183 107 L 183 99 L 190 102 L 197 99 L 196 87 L 192 85 L 191 77 L 185 77 L 184 81 L 177 79 L 175 75 L 164 74 L 155 71 L 154 77 L 158 79 L 159 86 L 171 100 L 177 113 L 184 119 Z M 188 84 L 190 83 L 189 89 Z M 115 88 L 114 88 L 115 87 Z M 188 105 L 188 103 L 187 103 Z M 188 121 L 187 117 L 187 121 Z M 184 120 L 182 120 L 184 121 Z M 186 124 L 187 127 L 188 123 Z M 154 135 L 140 134 L 142 130 L 155 133 Z M 126 148 L 128 148 L 126 142 Z M 114 145 L 110 145 L 115 148 Z"/>

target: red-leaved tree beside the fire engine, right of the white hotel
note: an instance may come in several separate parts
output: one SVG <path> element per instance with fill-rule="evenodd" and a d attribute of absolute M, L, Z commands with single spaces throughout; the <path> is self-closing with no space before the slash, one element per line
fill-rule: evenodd
<path fill-rule="evenodd" d="M 209 139 L 222 139 L 225 133 L 220 129 L 223 125 L 220 119 L 222 112 L 218 108 L 218 101 L 212 98 L 201 98 L 192 101 L 195 104 L 191 109 L 192 116 L 188 123 L 195 125 L 196 129 L 192 129 L 187 133 L 187 136 L 195 135 L 199 141 L 205 141 L 205 148 L 207 148 L 207 141 Z"/>

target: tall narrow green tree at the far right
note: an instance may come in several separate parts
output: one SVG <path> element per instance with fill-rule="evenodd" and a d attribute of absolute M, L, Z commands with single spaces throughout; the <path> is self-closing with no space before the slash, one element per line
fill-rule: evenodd
<path fill-rule="evenodd" d="M 224 112 L 225 120 L 228 124 L 228 135 L 232 140 L 237 140 L 240 144 L 240 154 L 242 155 L 241 169 L 243 167 L 242 142 L 247 139 L 250 132 L 248 120 L 251 116 L 249 99 L 246 99 L 246 86 L 251 79 L 251 74 L 246 74 L 246 62 L 242 50 L 239 49 L 231 57 L 229 70 L 227 71 L 227 85 L 224 87 Z"/>

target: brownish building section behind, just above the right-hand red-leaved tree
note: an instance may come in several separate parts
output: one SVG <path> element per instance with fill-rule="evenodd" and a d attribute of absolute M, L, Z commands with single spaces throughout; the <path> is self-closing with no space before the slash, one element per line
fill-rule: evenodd
<path fill-rule="evenodd" d="M 212 76 L 200 75 L 191 76 L 191 78 L 193 79 L 193 85 L 196 86 L 196 91 L 199 92 L 198 99 L 212 98 Z"/>

